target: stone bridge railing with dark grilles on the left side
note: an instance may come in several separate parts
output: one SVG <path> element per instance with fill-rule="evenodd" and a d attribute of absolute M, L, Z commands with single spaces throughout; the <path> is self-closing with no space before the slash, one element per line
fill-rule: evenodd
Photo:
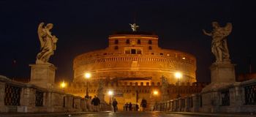
<path fill-rule="evenodd" d="M 111 107 L 103 102 L 100 110 L 111 110 Z M 0 75 L 0 113 L 80 111 L 92 111 L 91 99 L 66 94 L 58 89 L 16 82 Z"/>

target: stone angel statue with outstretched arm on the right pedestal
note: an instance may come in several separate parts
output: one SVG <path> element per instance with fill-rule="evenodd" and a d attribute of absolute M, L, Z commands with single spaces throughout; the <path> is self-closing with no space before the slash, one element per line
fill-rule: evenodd
<path fill-rule="evenodd" d="M 212 22 L 213 30 L 208 33 L 203 29 L 203 33 L 211 36 L 211 52 L 216 57 L 216 63 L 230 63 L 230 54 L 227 48 L 227 36 L 232 31 L 232 24 L 227 23 L 225 27 L 219 26 L 219 23 Z"/>

